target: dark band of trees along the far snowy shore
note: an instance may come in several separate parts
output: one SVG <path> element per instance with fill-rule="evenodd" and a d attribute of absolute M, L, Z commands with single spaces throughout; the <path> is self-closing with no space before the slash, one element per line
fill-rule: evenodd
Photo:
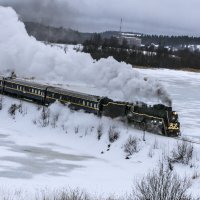
<path fill-rule="evenodd" d="M 117 37 L 102 38 L 100 34 L 93 34 L 83 43 L 83 52 L 90 53 L 96 60 L 112 56 L 119 62 L 137 66 L 200 69 L 199 50 L 191 50 L 187 45 L 174 50 L 174 46 L 161 43 L 129 46 L 126 39 L 119 42 Z"/>

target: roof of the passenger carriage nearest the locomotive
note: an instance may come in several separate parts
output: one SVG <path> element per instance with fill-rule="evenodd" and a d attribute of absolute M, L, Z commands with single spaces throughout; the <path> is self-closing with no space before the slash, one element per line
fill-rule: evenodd
<path fill-rule="evenodd" d="M 73 97 L 77 97 L 77 98 L 81 98 L 81 99 L 86 99 L 86 100 L 90 100 L 90 101 L 99 101 L 101 99 L 100 96 L 85 94 L 85 93 L 76 92 L 76 91 L 59 88 L 59 87 L 49 87 L 48 91 L 60 93 L 60 94 L 64 94 L 64 95 L 69 95 L 69 96 L 73 96 Z"/>

